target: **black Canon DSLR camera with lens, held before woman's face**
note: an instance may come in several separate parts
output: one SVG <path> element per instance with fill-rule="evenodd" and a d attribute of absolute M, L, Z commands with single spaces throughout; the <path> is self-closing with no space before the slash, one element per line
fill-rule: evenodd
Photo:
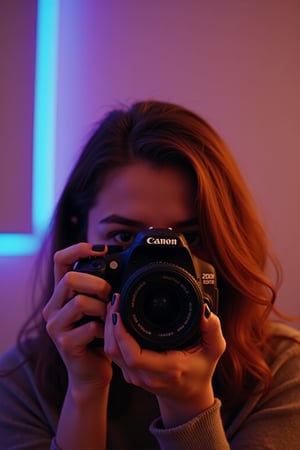
<path fill-rule="evenodd" d="M 80 260 L 75 269 L 105 279 L 119 292 L 120 314 L 142 348 L 183 349 L 198 342 L 203 304 L 218 311 L 213 266 L 192 255 L 180 233 L 151 229 L 122 250 Z"/>

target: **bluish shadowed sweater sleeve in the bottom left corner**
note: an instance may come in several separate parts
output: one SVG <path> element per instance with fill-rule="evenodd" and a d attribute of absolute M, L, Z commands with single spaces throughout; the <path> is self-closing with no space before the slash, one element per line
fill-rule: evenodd
<path fill-rule="evenodd" d="M 3 376 L 5 371 L 9 375 Z M 54 450 L 55 414 L 41 398 L 16 348 L 1 356 L 0 373 L 0 450 Z"/>

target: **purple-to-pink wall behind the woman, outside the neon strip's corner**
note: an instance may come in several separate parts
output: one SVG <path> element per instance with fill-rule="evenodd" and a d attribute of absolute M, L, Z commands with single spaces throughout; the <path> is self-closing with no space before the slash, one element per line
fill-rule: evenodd
<path fill-rule="evenodd" d="M 56 197 L 109 108 L 144 98 L 181 103 L 231 147 L 284 267 L 278 305 L 300 314 L 299 1 L 61 0 L 59 30 Z M 3 95 L 8 104 L 13 92 Z M 1 152 L 11 145 L 2 138 Z M 12 201 L 22 205 L 22 190 Z M 33 260 L 0 258 L 0 350 L 30 309 Z"/>

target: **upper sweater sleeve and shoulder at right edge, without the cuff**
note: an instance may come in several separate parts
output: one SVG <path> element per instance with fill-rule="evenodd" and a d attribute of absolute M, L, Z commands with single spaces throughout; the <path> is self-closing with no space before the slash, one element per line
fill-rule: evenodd
<path fill-rule="evenodd" d="M 275 336 L 269 359 L 271 389 L 248 401 L 226 430 L 232 450 L 300 449 L 300 334 L 281 330 L 286 337 Z"/>

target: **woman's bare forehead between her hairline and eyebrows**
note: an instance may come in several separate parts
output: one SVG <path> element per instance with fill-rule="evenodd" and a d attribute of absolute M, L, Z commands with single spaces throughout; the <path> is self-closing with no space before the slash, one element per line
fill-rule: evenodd
<path fill-rule="evenodd" d="M 194 199 L 186 171 L 141 162 L 113 170 L 93 210 L 98 216 L 117 213 L 156 226 L 160 218 L 175 222 L 194 217 Z"/>

